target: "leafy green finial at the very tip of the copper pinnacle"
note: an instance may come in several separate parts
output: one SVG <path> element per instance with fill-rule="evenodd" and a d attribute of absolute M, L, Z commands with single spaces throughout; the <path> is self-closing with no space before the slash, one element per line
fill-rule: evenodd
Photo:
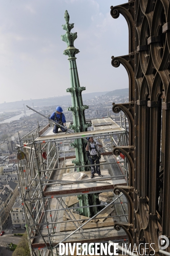
<path fill-rule="evenodd" d="M 65 35 L 61 35 L 61 39 L 66 42 L 67 48 L 72 47 L 72 50 L 68 51 L 68 49 L 64 50 L 63 54 L 68 55 L 69 57 L 75 57 L 76 53 L 79 53 L 79 50 L 74 47 L 74 41 L 77 38 L 77 32 L 71 33 L 71 29 L 74 27 L 74 23 L 69 24 L 69 13 L 67 10 L 64 14 L 64 19 L 66 24 L 62 25 L 63 29 L 66 30 Z"/>

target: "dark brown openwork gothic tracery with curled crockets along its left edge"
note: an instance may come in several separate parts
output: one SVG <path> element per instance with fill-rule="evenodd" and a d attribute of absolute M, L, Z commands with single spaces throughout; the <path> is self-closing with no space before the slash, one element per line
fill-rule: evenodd
<path fill-rule="evenodd" d="M 127 70 L 129 103 L 113 103 L 113 112 L 127 115 L 130 141 L 114 153 L 123 152 L 130 165 L 129 186 L 121 191 L 129 191 L 134 215 L 129 227 L 121 227 L 137 246 L 154 243 L 158 253 L 158 236 L 170 238 L 170 1 L 129 0 L 111 6 L 112 17 L 119 14 L 129 28 L 129 54 L 112 56 L 112 66 L 122 64 Z"/>

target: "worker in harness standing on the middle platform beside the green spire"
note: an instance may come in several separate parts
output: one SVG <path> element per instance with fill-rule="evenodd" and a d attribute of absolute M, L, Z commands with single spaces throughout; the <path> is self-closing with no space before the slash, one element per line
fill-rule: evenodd
<path fill-rule="evenodd" d="M 98 147 L 102 147 L 102 145 L 100 143 L 98 143 L 97 141 L 93 140 L 93 137 L 89 137 L 87 138 L 87 146 L 86 146 L 86 151 L 89 151 L 90 154 L 90 164 L 94 165 L 96 164 L 96 168 L 95 166 L 91 166 L 91 179 L 95 176 L 95 173 L 98 174 L 99 177 L 103 177 L 101 175 L 101 170 L 100 170 L 100 159 L 101 159 L 101 155 L 99 152 L 99 148 Z"/>

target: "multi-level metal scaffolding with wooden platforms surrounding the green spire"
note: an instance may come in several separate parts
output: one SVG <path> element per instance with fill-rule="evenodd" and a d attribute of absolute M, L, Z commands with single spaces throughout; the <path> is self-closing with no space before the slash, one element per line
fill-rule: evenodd
<path fill-rule="evenodd" d="M 93 127 L 96 123 L 99 124 L 96 124 L 94 130 L 84 132 L 83 137 L 82 132 L 59 132 L 50 135 L 50 125 L 41 130 L 38 125 L 23 138 L 19 135 L 17 176 L 32 255 L 58 255 L 60 242 L 88 243 L 91 239 L 104 242 L 127 238 L 122 229 L 113 228 L 114 221 L 128 220 L 127 199 L 124 194 L 114 191 L 116 185 L 127 185 L 128 164 L 126 159 L 112 154 L 114 146 L 124 143 L 125 129 L 119 127 L 111 118 L 95 119 L 91 122 Z M 104 125 L 104 122 L 109 125 Z M 97 137 L 103 144 L 101 155 L 104 162 L 101 161 L 100 165 L 104 175 L 102 178 L 96 176 L 92 180 L 88 176 L 90 171 L 84 171 L 87 177 L 76 180 L 73 176 L 81 166 L 72 164 L 75 149 L 70 145 L 76 137 L 86 138 L 87 135 Z M 106 144 L 106 140 L 109 143 Z M 68 200 L 76 198 L 76 195 L 98 193 L 100 196 L 100 193 L 111 191 L 115 194 L 112 193 L 110 202 L 100 200 L 100 204 L 96 205 L 100 207 L 100 211 L 92 218 L 79 215 L 78 208 L 94 205 L 80 206 L 78 202 L 70 206 L 68 204 Z M 114 207 L 115 215 L 102 217 L 101 214 L 107 207 Z"/>

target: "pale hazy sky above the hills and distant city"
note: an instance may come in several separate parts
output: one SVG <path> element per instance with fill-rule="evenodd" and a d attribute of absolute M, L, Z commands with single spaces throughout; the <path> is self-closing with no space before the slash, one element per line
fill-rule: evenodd
<path fill-rule="evenodd" d="M 128 87 L 127 72 L 113 68 L 111 56 L 128 54 L 127 22 L 113 19 L 110 6 L 127 0 L 0 1 L 0 103 L 68 95 L 69 61 L 64 12 L 72 32 L 80 85 L 84 93 Z"/>

